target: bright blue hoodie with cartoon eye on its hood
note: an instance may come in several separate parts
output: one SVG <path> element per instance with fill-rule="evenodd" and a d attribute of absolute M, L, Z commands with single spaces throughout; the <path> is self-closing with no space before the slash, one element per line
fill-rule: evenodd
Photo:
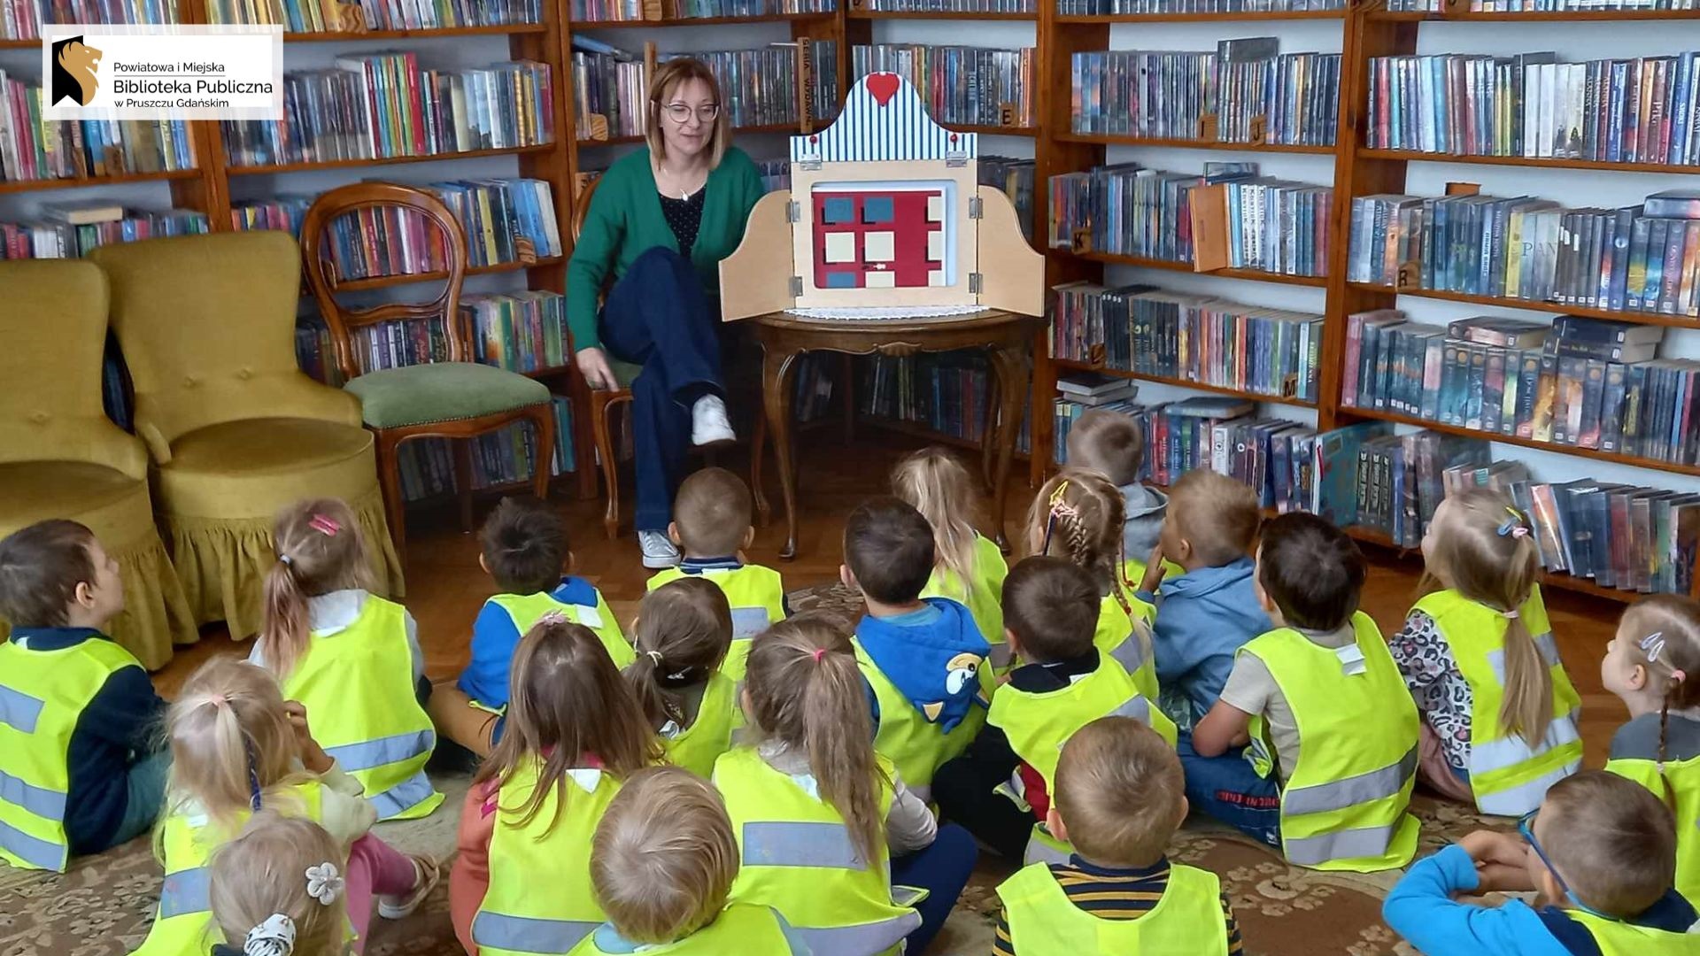
<path fill-rule="evenodd" d="M 857 641 L 874 667 L 938 730 L 950 733 L 979 696 L 979 662 L 991 653 L 967 607 L 949 597 L 925 597 L 926 609 L 898 617 L 864 614 Z M 974 658 L 974 660 L 969 660 Z M 984 701 L 979 706 L 986 706 Z M 876 701 L 874 723 L 879 723 Z"/>

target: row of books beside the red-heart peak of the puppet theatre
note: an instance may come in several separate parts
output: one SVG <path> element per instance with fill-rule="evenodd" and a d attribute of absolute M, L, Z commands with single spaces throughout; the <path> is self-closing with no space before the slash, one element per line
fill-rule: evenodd
<path fill-rule="evenodd" d="M 925 46 L 886 43 L 853 46 L 850 71 L 898 73 L 921 94 L 935 122 L 959 126 L 1034 126 L 1037 49 Z"/>

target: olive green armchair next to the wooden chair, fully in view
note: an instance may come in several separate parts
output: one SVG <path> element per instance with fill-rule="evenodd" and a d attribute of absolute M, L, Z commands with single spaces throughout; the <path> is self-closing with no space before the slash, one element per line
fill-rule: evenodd
<path fill-rule="evenodd" d="M 248 231 L 109 245 L 112 328 L 136 386 L 160 522 L 189 606 L 233 638 L 260 628 L 272 521 L 308 497 L 359 517 L 377 594 L 403 592 L 359 401 L 296 362 L 301 252 Z"/>

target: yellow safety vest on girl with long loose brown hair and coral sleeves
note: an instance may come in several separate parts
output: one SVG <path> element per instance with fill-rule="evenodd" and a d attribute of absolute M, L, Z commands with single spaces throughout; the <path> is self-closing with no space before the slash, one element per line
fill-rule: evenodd
<path fill-rule="evenodd" d="M 566 779 L 559 820 L 561 791 L 549 788 L 537 815 L 520 823 L 541 769 L 542 760 L 529 757 L 498 794 L 490 834 L 490 890 L 473 917 L 479 956 L 571 953 L 607 920 L 590 885 L 590 839 L 620 781 L 600 771 L 576 771 Z M 588 776 L 595 782 L 581 784 L 578 777 Z"/>

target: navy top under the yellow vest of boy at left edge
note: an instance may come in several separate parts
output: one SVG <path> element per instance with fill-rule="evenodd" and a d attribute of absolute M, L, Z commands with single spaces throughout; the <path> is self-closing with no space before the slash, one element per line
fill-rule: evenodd
<path fill-rule="evenodd" d="M 46 652 L 112 638 L 94 628 L 14 628 L 10 640 Z M 160 750 L 163 718 L 165 701 L 153 692 L 153 680 L 141 665 L 114 670 L 83 708 L 65 754 L 70 782 L 65 835 L 71 856 L 112 844 L 129 806 L 129 765 Z"/>

